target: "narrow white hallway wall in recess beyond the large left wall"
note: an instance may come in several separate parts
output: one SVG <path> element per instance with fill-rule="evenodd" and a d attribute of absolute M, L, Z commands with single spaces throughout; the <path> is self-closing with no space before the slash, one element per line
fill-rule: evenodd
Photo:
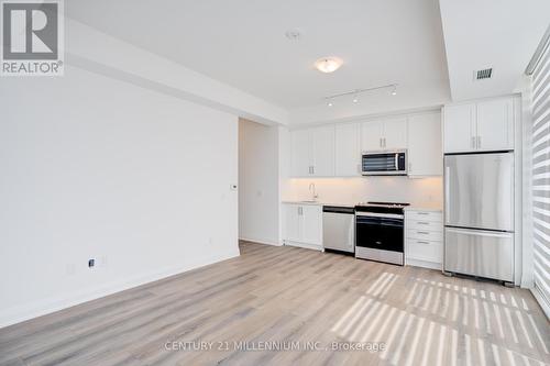
<path fill-rule="evenodd" d="M 279 244 L 278 127 L 239 121 L 239 237 Z"/>

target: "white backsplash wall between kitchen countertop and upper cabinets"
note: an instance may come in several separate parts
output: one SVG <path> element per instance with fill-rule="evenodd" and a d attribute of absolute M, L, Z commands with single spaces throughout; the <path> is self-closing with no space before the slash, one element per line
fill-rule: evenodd
<path fill-rule="evenodd" d="M 309 199 L 315 182 L 319 201 L 355 204 L 365 201 L 409 202 L 422 208 L 443 207 L 443 179 L 431 177 L 292 178 L 283 200 Z"/>

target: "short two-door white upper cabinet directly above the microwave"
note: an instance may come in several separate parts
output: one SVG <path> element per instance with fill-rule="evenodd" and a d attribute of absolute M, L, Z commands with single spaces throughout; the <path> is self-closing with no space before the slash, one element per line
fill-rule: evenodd
<path fill-rule="evenodd" d="M 363 152 L 402 148 L 407 148 L 407 119 L 405 117 L 361 124 L 361 149 Z"/>

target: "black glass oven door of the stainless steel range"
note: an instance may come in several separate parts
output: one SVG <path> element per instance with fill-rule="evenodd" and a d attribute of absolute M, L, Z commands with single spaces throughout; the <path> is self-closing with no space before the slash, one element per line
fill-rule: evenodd
<path fill-rule="evenodd" d="M 403 253 L 403 215 L 358 212 L 355 215 L 355 246 Z"/>

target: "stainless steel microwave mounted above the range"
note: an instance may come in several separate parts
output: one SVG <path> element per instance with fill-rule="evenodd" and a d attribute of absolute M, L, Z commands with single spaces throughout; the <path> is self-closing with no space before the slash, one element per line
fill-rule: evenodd
<path fill-rule="evenodd" d="M 361 174 L 364 176 L 406 176 L 407 151 L 378 151 L 361 154 Z"/>

